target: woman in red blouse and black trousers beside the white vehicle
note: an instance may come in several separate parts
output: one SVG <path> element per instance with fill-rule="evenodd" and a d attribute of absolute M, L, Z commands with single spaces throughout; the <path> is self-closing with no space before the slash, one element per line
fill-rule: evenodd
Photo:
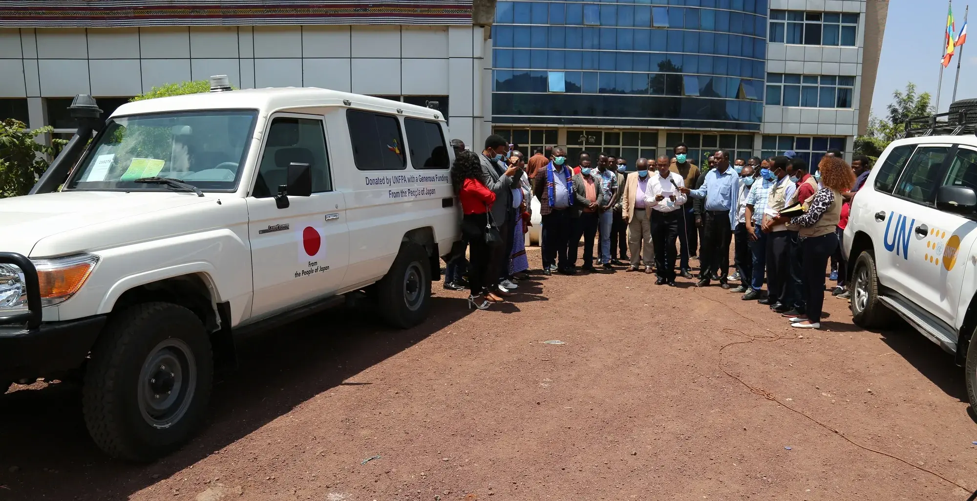
<path fill-rule="evenodd" d="M 464 219 L 461 223 L 462 237 L 468 240 L 469 268 L 468 307 L 487 309 L 492 302 L 503 299 L 488 291 L 488 261 L 491 251 L 485 241 L 488 225 L 488 210 L 495 202 L 495 194 L 482 182 L 482 163 L 477 154 L 461 152 L 451 166 L 451 182 L 458 191 L 458 200 Z"/>

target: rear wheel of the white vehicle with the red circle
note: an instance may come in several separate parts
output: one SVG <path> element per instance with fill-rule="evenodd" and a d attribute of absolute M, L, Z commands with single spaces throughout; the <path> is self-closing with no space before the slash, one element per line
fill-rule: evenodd
<path fill-rule="evenodd" d="M 431 259 L 421 246 L 401 244 L 390 271 L 376 285 L 385 322 L 399 329 L 420 324 L 431 303 Z"/>

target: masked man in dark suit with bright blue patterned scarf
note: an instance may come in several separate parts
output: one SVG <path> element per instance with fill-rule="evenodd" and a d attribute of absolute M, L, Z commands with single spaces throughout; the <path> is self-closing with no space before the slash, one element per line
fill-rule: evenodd
<path fill-rule="evenodd" d="M 536 172 L 532 190 L 539 199 L 539 215 L 542 216 L 543 275 L 551 273 L 550 267 L 554 263 L 558 272 L 573 275 L 567 255 L 572 218 L 576 217 L 573 212 L 573 169 L 565 165 L 567 157 L 563 148 L 553 148 L 552 153 L 551 161 L 541 172 Z"/>

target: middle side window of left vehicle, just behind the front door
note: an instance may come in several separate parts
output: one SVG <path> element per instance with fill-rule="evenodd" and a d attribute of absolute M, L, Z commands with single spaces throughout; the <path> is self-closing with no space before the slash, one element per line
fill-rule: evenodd
<path fill-rule="evenodd" d="M 397 116 L 347 110 L 353 159 L 360 170 L 406 168 L 404 136 Z"/>

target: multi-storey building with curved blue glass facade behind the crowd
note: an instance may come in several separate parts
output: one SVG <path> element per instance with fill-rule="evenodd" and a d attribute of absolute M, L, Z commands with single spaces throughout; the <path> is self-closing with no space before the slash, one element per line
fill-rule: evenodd
<path fill-rule="evenodd" d="M 573 161 L 606 151 L 632 166 L 671 154 L 679 140 L 700 164 L 716 148 L 743 159 L 789 149 L 820 159 L 822 146 L 847 152 L 859 123 L 866 8 L 882 8 L 884 22 L 874 5 L 882 2 L 787 10 L 796 3 L 499 1 L 493 128 L 521 146 L 557 137 Z"/>

